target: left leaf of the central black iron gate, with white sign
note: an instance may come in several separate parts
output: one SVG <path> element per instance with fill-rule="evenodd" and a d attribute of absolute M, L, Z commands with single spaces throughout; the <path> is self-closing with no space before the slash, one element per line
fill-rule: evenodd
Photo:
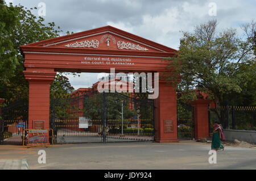
<path fill-rule="evenodd" d="M 50 127 L 53 129 L 53 143 L 101 142 L 99 134 L 102 120 L 100 117 L 89 119 L 84 115 L 86 99 L 101 107 L 101 96 L 97 92 L 68 99 L 51 99 Z M 101 108 L 94 110 L 101 115 Z"/>

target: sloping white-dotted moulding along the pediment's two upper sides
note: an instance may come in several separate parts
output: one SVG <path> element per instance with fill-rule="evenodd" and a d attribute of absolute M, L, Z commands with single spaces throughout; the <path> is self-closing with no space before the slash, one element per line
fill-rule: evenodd
<path fill-rule="evenodd" d="M 112 32 L 112 31 L 103 31 L 103 32 L 99 32 L 99 33 L 93 33 L 93 34 L 86 35 L 86 36 L 76 37 L 75 39 L 69 39 L 69 40 L 65 40 L 65 41 L 59 41 L 59 42 L 56 42 L 56 43 L 47 44 L 47 45 L 44 45 L 43 47 L 49 47 L 49 46 L 52 46 L 52 45 L 57 45 L 57 44 L 61 44 L 61 43 L 66 43 L 66 42 L 68 42 L 68 41 L 74 41 L 74 40 L 84 39 L 85 37 L 101 35 L 101 34 L 104 34 L 104 33 L 112 33 L 113 35 L 117 35 L 117 36 L 123 37 L 124 39 L 130 40 L 130 41 L 134 41 L 134 42 L 136 42 L 136 43 L 145 45 L 145 46 L 147 46 L 147 47 L 150 47 L 150 48 L 153 48 L 153 49 L 156 49 L 156 50 L 159 50 L 159 51 L 161 51 L 161 52 L 165 52 L 165 51 L 162 50 L 162 49 L 152 47 L 151 45 L 147 45 L 147 44 L 142 43 L 142 42 L 139 42 L 139 41 L 137 41 L 137 40 L 130 39 L 129 37 L 119 35 L 118 33 L 114 33 L 114 32 Z"/>

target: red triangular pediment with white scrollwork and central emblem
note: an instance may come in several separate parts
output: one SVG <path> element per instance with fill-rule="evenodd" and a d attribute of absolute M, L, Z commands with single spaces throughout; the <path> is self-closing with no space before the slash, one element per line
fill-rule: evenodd
<path fill-rule="evenodd" d="M 39 41 L 22 47 L 49 47 L 67 49 L 128 50 L 136 52 L 173 52 L 176 50 L 119 30 L 112 26 L 73 33 Z"/>

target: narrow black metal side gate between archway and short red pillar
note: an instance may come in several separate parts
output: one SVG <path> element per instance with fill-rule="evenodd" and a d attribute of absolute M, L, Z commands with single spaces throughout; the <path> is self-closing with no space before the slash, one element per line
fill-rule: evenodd
<path fill-rule="evenodd" d="M 177 133 L 179 140 L 195 138 L 194 111 L 190 104 L 177 101 Z"/>

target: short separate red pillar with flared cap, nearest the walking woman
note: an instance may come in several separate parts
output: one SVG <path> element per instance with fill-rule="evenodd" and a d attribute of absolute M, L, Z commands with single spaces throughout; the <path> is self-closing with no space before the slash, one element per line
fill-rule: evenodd
<path fill-rule="evenodd" d="M 195 115 L 195 138 L 205 138 L 209 136 L 208 105 L 212 100 L 199 99 L 191 102 Z"/>

